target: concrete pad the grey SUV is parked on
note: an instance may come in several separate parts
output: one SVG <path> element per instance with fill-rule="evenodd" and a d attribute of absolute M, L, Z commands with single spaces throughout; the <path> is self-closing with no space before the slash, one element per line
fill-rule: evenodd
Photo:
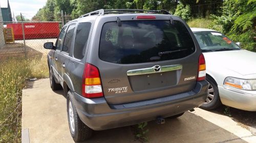
<path fill-rule="evenodd" d="M 49 79 L 29 82 L 23 90 L 23 129 L 29 130 L 30 142 L 74 142 L 68 126 L 66 98 L 62 91 L 53 92 Z M 148 142 L 245 142 L 239 136 L 186 112 L 165 124 L 149 122 Z M 130 126 L 95 131 L 86 142 L 138 142 Z"/>

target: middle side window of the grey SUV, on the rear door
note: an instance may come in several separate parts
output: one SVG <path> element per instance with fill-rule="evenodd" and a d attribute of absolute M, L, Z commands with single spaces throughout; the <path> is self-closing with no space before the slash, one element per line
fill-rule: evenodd
<path fill-rule="evenodd" d="M 69 53 L 71 45 L 72 45 L 72 39 L 74 36 L 75 27 L 76 27 L 75 24 L 69 26 L 67 34 L 64 39 L 62 51 Z"/>

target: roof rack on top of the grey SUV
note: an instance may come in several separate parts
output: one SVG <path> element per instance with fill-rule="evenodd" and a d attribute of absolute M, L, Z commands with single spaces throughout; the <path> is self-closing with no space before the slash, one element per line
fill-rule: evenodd
<path fill-rule="evenodd" d="M 139 10 L 139 9 L 112 9 L 112 10 L 96 10 L 87 14 L 84 14 L 81 17 L 91 16 L 91 15 L 104 15 L 104 14 L 122 14 L 122 13 L 163 13 L 171 14 L 167 10 Z"/>

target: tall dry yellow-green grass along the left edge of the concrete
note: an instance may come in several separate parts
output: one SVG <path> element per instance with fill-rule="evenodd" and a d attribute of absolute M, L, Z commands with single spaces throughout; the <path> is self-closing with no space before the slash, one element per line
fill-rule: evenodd
<path fill-rule="evenodd" d="M 47 58 L 9 58 L 0 67 L 0 142 L 21 142 L 22 89 L 28 78 L 49 76 Z"/>

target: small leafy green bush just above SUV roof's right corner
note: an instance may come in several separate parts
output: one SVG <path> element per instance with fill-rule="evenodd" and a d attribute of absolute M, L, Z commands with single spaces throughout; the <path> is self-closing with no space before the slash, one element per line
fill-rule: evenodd
<path fill-rule="evenodd" d="M 177 5 L 177 8 L 175 10 L 174 15 L 177 15 L 184 19 L 185 21 L 188 21 L 191 18 L 191 9 L 189 5 L 184 6 L 182 3 Z"/>

